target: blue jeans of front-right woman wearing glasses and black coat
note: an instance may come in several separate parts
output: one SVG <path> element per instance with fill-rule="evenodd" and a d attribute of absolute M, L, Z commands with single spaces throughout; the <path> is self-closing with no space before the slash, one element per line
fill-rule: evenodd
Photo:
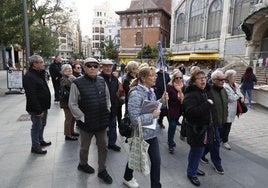
<path fill-rule="evenodd" d="M 203 156 L 205 147 L 194 147 L 191 146 L 189 155 L 188 155 L 188 167 L 187 167 L 187 175 L 196 177 L 197 169 L 199 166 L 199 161 Z"/>

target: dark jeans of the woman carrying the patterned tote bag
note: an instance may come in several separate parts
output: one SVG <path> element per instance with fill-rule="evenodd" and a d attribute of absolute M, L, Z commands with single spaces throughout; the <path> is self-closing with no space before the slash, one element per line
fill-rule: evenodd
<path fill-rule="evenodd" d="M 159 150 L 159 143 L 157 137 L 146 140 L 149 143 L 148 154 L 151 161 L 151 173 L 150 173 L 150 180 L 151 180 L 151 188 L 160 188 L 160 164 L 161 164 L 161 157 L 160 157 L 160 150 Z M 133 178 L 133 170 L 128 167 L 128 163 L 126 165 L 124 179 L 129 181 Z"/>

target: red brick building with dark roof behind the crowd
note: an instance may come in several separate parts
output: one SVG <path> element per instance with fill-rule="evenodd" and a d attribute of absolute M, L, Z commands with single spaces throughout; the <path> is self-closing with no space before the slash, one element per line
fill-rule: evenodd
<path fill-rule="evenodd" d="M 137 58 L 145 45 L 156 46 L 162 42 L 163 48 L 170 44 L 171 0 L 132 0 L 125 11 L 117 11 L 120 16 L 120 62 Z"/>

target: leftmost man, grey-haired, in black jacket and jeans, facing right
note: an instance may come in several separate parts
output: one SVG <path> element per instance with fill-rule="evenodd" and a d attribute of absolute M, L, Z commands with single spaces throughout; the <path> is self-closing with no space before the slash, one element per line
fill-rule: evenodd
<path fill-rule="evenodd" d="M 43 58 L 33 55 L 29 57 L 29 64 L 30 68 L 23 78 L 23 87 L 26 93 L 26 110 L 32 120 L 31 152 L 46 154 L 47 151 L 41 147 L 51 145 L 51 142 L 46 142 L 43 138 L 51 95 L 45 78 Z"/>

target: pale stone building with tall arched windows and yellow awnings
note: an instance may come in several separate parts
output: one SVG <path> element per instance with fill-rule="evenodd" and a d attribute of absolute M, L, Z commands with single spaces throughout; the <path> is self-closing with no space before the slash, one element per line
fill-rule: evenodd
<path fill-rule="evenodd" d="M 173 0 L 172 60 L 218 67 L 265 55 L 267 6 L 267 0 Z M 258 11 L 261 16 L 250 16 Z M 249 40 L 245 28 L 251 31 Z"/>

